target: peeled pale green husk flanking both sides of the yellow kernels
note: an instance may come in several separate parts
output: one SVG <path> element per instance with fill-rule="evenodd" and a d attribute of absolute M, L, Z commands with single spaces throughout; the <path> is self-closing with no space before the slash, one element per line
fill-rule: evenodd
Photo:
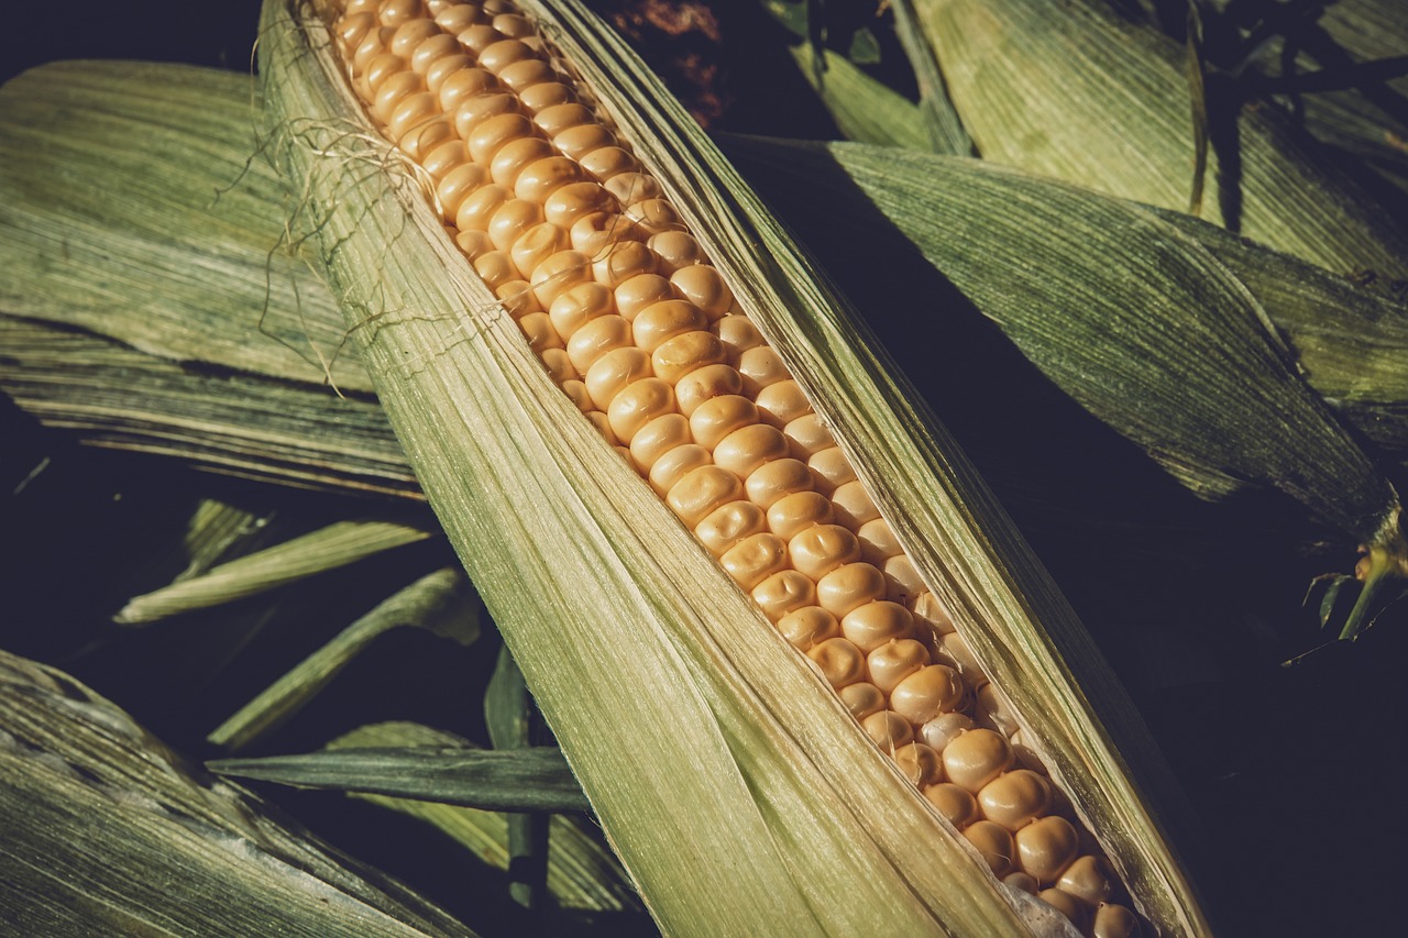
<path fill-rule="evenodd" d="M 1176 813 L 1167 770 L 972 469 L 620 39 L 573 4 L 531 10 L 912 545 L 1140 911 L 1167 934 L 1202 931 L 1139 794 L 1157 790 L 1162 817 Z M 294 231 L 320 248 L 432 507 L 662 927 L 1064 927 L 993 877 L 552 384 L 365 121 L 311 10 L 266 4 L 262 35 L 269 151 L 293 180 Z"/>

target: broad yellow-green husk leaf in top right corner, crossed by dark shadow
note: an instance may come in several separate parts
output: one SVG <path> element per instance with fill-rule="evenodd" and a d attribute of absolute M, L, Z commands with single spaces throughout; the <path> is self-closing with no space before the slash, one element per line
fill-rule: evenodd
<path fill-rule="evenodd" d="M 1186 51 L 1100 0 L 917 0 L 986 159 L 1187 210 Z M 1408 273 L 1402 227 L 1274 107 L 1208 87 L 1204 217 L 1335 273 Z"/>

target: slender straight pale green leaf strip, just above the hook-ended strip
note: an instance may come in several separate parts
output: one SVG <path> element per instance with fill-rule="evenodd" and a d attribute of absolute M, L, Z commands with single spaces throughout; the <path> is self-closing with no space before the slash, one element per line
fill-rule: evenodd
<path fill-rule="evenodd" d="M 311 534 L 221 563 L 201 576 L 135 596 L 113 617 L 113 621 L 141 625 L 231 603 L 428 537 L 431 532 L 422 527 L 396 521 L 338 521 Z"/>

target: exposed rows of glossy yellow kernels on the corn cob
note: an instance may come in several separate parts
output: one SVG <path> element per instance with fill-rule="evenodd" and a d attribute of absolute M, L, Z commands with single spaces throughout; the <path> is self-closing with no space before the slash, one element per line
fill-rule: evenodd
<path fill-rule="evenodd" d="M 994 875 L 1135 934 L 831 430 L 532 24 L 503 0 L 348 0 L 331 27 L 366 113 L 577 408 Z"/>

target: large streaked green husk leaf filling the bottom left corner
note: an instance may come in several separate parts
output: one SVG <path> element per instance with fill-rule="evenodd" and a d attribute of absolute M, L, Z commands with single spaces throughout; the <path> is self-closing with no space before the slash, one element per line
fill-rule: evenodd
<path fill-rule="evenodd" d="M 13 934 L 472 934 L 190 769 L 87 687 L 3 652 L 0 730 Z"/>

